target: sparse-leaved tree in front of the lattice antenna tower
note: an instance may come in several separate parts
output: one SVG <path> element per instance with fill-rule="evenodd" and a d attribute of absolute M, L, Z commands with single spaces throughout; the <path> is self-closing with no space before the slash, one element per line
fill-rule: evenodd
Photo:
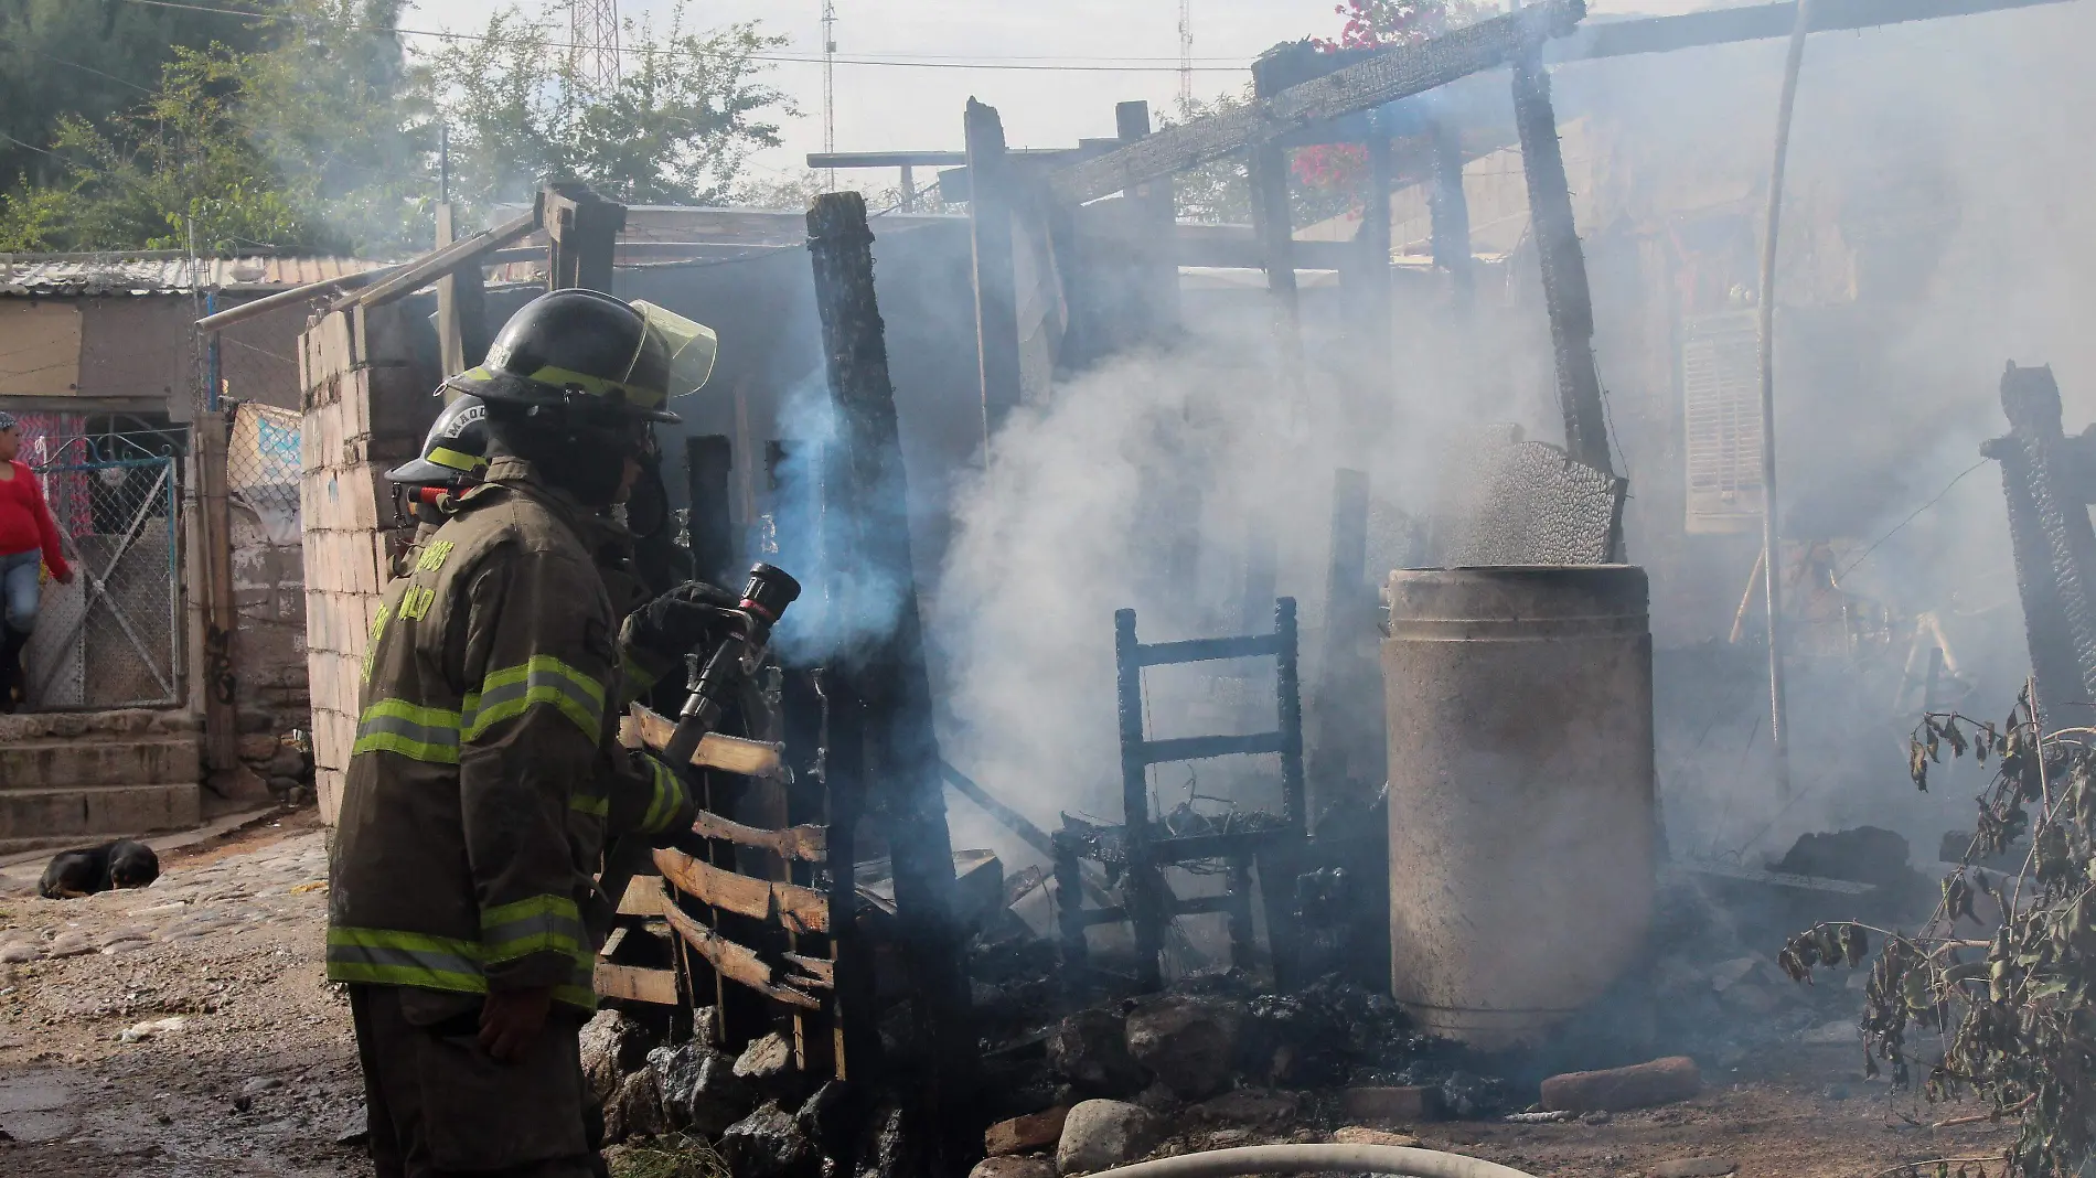
<path fill-rule="evenodd" d="M 755 57 L 786 38 L 757 23 L 700 34 L 683 21 L 681 2 L 660 36 L 650 21 L 625 21 L 610 86 L 585 80 L 547 23 L 516 6 L 490 17 L 480 40 L 440 50 L 430 69 L 451 126 L 453 191 L 484 208 L 562 176 L 627 203 L 725 203 L 748 155 L 780 143 L 767 115 L 796 113 L 757 82 Z"/>

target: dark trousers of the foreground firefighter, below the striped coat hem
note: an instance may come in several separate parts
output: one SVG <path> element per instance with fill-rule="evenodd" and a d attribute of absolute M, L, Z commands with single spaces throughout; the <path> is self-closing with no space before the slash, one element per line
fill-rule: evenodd
<path fill-rule="evenodd" d="M 350 1015 L 377 1178 L 606 1178 L 578 1012 L 555 1006 L 518 1063 L 480 1048 L 470 998 L 352 985 Z"/>

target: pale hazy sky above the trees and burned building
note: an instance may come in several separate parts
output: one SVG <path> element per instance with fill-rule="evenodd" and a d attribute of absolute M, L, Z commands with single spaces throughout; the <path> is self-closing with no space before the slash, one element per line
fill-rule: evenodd
<path fill-rule="evenodd" d="M 472 31 L 503 6 L 499 0 L 421 0 L 400 23 Z M 671 6 L 673 0 L 620 0 L 620 15 L 660 19 Z M 1639 4 L 1641 10 L 1685 6 L 1694 4 Z M 524 8 L 534 10 L 537 0 L 526 0 Z M 1195 94 L 1207 99 L 1243 88 L 1251 59 L 1272 44 L 1337 36 L 1344 19 L 1333 8 L 1335 0 L 1193 0 Z M 1624 2 L 1599 0 L 1591 8 L 1622 10 Z M 786 54 L 822 54 L 822 0 L 690 0 L 685 13 L 700 27 L 761 21 L 792 38 Z M 1151 111 L 1163 113 L 1178 94 L 1178 0 L 836 0 L 836 17 L 838 57 L 998 59 L 1010 65 L 1157 59 L 1147 71 L 838 65 L 838 151 L 960 151 L 960 119 L 970 96 L 998 107 L 1012 147 L 1071 147 L 1079 136 L 1113 136 L 1115 103 L 1147 99 Z M 553 19 L 564 23 L 564 8 Z M 784 119 L 784 145 L 755 163 L 771 174 L 799 172 L 809 151 L 822 151 L 822 65 L 778 63 L 767 82 L 794 99 L 801 117 Z M 893 184 L 895 176 L 882 172 L 868 180 Z"/>

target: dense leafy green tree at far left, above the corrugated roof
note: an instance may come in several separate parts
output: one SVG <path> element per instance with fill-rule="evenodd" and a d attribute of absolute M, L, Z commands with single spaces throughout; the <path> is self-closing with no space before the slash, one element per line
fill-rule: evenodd
<path fill-rule="evenodd" d="M 136 107 L 61 115 L 59 174 L 0 197 L 6 249 L 428 245 L 432 180 L 400 0 L 293 0 L 262 50 L 174 48 Z"/>

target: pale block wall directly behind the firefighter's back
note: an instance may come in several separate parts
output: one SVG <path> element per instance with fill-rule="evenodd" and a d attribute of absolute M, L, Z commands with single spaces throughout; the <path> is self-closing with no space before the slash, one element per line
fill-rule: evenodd
<path fill-rule="evenodd" d="M 425 314 L 415 300 L 352 308 L 300 337 L 306 690 L 314 788 L 329 824 L 342 809 L 365 641 L 396 541 L 386 470 L 415 455 L 438 409 L 434 335 L 417 310 Z"/>

